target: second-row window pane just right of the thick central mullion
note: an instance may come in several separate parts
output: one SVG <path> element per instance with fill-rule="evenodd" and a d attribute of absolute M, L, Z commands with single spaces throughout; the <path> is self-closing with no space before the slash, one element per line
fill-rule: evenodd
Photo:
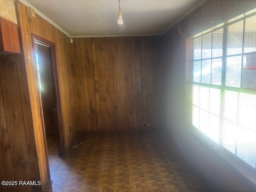
<path fill-rule="evenodd" d="M 225 85 L 240 87 L 242 56 L 228 57 Z"/>

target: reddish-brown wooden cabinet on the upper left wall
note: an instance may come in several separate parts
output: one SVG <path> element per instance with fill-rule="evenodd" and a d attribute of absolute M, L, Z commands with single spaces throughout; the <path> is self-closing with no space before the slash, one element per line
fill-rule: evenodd
<path fill-rule="evenodd" d="M 20 53 L 18 25 L 0 17 L 0 54 Z"/>

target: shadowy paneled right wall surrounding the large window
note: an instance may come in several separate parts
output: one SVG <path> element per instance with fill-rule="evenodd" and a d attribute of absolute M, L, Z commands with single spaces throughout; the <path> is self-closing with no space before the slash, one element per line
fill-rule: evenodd
<path fill-rule="evenodd" d="M 193 166 L 220 191 L 255 191 L 256 186 L 184 128 L 186 39 L 254 7 L 254 0 L 208 0 L 161 36 L 159 41 L 161 47 L 157 54 L 162 94 L 158 106 L 162 109 L 162 125 L 170 131 L 172 139 L 183 149 Z M 183 35 L 179 34 L 179 27 Z"/>

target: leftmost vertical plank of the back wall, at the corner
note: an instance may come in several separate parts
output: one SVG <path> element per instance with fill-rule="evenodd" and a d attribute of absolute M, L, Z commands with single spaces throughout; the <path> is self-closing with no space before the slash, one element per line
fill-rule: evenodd
<path fill-rule="evenodd" d="M 84 101 L 84 82 L 82 74 L 82 61 L 81 61 L 81 48 L 80 48 L 80 38 L 75 38 L 73 40 L 74 44 L 74 55 L 76 61 L 76 77 L 77 77 L 77 89 L 78 89 L 78 103 L 79 103 L 79 114 L 81 127 L 79 131 L 86 130 L 86 110 Z"/>

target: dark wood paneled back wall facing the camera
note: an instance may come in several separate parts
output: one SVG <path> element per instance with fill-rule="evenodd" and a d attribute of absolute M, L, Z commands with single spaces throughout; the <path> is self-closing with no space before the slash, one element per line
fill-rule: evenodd
<path fill-rule="evenodd" d="M 157 39 L 74 38 L 79 131 L 158 124 Z"/>

